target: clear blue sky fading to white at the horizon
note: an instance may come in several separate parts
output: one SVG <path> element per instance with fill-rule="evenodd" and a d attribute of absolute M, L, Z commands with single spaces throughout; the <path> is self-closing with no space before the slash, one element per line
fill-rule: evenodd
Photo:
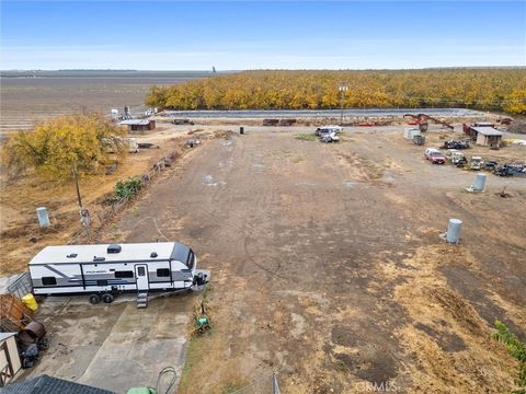
<path fill-rule="evenodd" d="M 526 66 L 526 1 L 1 1 L 0 69 Z"/>

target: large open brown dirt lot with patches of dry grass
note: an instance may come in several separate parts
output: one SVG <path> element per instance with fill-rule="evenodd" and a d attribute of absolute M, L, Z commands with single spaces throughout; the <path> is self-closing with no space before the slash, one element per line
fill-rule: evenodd
<path fill-rule="evenodd" d="M 516 364 L 490 336 L 500 318 L 524 339 L 526 181 L 488 175 L 468 194 L 473 173 L 422 150 L 393 132 L 211 140 L 106 231 L 190 244 L 213 271 L 213 331 L 191 340 L 181 393 L 272 371 L 284 393 L 512 386 Z M 459 246 L 438 237 L 450 218 L 464 221 Z"/>

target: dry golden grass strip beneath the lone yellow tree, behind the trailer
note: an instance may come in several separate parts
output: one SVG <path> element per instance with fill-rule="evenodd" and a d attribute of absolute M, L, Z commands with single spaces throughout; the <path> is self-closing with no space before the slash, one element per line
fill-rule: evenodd
<path fill-rule="evenodd" d="M 169 139 L 160 149 L 141 150 L 128 154 L 126 162 L 111 175 L 85 176 L 80 179 L 84 207 L 92 220 L 96 211 L 105 208 L 105 196 L 112 193 L 116 182 L 147 173 L 153 163 L 174 150 L 181 150 L 183 140 Z M 35 212 L 37 207 L 49 210 L 52 225 L 41 229 Z M 28 260 L 41 248 L 50 244 L 64 244 L 80 230 L 78 201 L 72 182 L 46 181 L 33 175 L 1 181 L 0 274 L 11 275 L 24 270 Z"/>

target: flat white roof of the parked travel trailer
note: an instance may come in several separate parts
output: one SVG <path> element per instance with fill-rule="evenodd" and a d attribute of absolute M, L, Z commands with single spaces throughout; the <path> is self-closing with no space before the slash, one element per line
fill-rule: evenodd
<path fill-rule="evenodd" d="M 95 256 L 104 257 L 104 260 L 100 263 L 160 262 L 168 259 L 186 263 L 190 252 L 188 246 L 180 244 L 179 242 L 150 242 L 119 245 L 122 247 L 119 253 L 107 253 L 108 244 L 46 246 L 33 257 L 30 266 L 37 264 L 91 263 Z M 157 253 L 157 257 L 150 257 L 152 252 Z M 73 257 L 73 255 L 76 256 Z"/>

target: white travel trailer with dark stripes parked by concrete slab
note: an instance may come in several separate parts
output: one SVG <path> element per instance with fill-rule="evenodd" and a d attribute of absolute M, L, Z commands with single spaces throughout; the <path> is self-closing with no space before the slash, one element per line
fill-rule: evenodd
<path fill-rule="evenodd" d="M 46 246 L 30 262 L 35 294 L 89 293 L 110 303 L 121 292 L 190 289 L 208 281 L 197 257 L 178 242 Z M 139 300 L 138 300 L 139 301 Z"/>

